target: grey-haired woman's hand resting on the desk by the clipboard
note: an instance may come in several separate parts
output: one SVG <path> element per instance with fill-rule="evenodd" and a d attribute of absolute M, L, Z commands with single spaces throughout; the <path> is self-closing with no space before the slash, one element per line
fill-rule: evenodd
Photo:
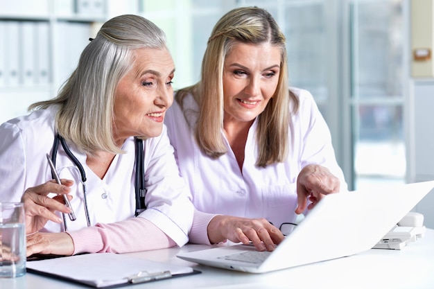
<path fill-rule="evenodd" d="M 27 236 L 27 256 L 33 254 L 54 254 L 69 256 L 74 245 L 67 233 L 35 233 Z"/>

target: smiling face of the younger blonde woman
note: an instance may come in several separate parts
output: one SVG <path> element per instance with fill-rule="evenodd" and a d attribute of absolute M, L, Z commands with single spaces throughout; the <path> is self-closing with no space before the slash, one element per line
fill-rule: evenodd
<path fill-rule="evenodd" d="M 225 125 L 252 122 L 266 108 L 279 82 L 281 50 L 269 43 L 236 42 L 223 68 Z"/>

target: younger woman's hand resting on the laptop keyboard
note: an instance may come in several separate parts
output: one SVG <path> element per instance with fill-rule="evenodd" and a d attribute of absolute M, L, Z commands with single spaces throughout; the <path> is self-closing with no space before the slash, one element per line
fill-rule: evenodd
<path fill-rule="evenodd" d="M 266 219 L 249 219 L 233 216 L 215 216 L 208 225 L 211 243 L 231 240 L 234 243 L 248 244 L 252 241 L 259 251 L 272 251 L 275 244 L 284 240 L 284 235 Z"/>

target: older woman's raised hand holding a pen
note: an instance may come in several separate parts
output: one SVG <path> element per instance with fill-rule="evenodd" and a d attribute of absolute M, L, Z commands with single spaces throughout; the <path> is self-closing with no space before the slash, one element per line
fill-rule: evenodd
<path fill-rule="evenodd" d="M 54 211 L 70 213 L 69 209 L 63 202 L 61 195 L 49 198 L 49 193 L 67 194 L 71 189 L 73 181 L 61 179 L 62 185 L 55 181 L 49 181 L 33 188 L 28 188 L 21 197 L 26 212 L 26 234 L 33 234 L 44 227 L 47 221 L 62 222 L 62 219 L 55 215 Z M 67 195 L 69 200 L 71 195 Z"/>

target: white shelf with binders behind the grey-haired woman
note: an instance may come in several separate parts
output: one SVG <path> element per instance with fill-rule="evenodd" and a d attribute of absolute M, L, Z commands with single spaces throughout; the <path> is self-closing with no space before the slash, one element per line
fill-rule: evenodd
<path fill-rule="evenodd" d="M 57 95 L 108 0 L 0 0 L 0 123 Z"/>

